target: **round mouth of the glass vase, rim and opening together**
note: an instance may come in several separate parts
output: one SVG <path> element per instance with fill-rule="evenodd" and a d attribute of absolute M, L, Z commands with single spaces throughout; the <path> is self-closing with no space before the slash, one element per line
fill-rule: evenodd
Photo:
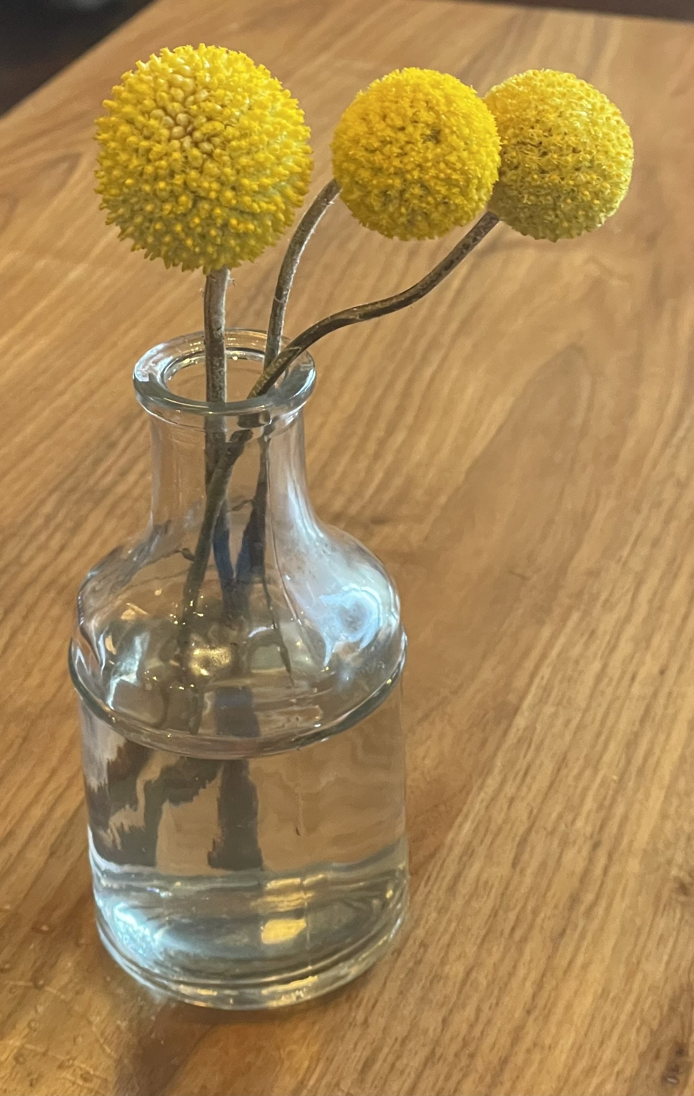
<path fill-rule="evenodd" d="M 314 359 L 305 352 L 269 392 L 249 400 L 244 393 L 263 372 L 265 341 L 264 331 L 226 330 L 227 400 L 215 403 L 205 399 L 204 333 L 195 331 L 159 343 L 135 366 L 133 381 L 137 399 L 160 419 L 180 421 L 185 418 L 189 425 L 200 429 L 211 418 L 243 416 L 249 420 L 248 426 L 284 418 L 302 408 L 311 395 L 316 383 Z M 286 342 L 283 340 L 283 346 Z"/>

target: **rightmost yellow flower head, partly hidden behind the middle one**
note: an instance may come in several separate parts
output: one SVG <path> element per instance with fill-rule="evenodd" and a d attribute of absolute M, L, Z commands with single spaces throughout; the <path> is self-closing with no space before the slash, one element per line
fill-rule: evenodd
<path fill-rule="evenodd" d="M 501 138 L 490 209 L 524 236 L 570 239 L 600 228 L 632 178 L 634 145 L 619 111 L 570 72 L 531 70 L 485 96 Z"/>

